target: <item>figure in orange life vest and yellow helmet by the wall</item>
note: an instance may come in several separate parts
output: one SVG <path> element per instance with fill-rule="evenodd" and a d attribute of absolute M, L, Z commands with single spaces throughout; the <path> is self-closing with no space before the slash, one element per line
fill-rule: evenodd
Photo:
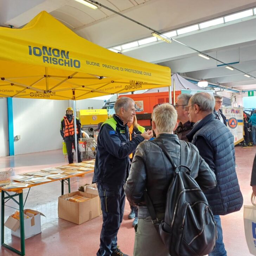
<path fill-rule="evenodd" d="M 63 117 L 60 123 L 60 134 L 62 139 L 66 143 L 67 151 L 68 151 L 68 160 L 69 164 L 73 163 L 73 154 L 72 154 L 72 146 L 76 150 L 75 144 L 75 124 L 74 124 L 74 116 L 73 116 L 73 108 L 66 108 L 66 116 Z M 81 139 L 81 123 L 79 118 L 76 117 L 76 135 L 77 135 L 77 162 L 82 162 L 81 158 L 81 150 L 79 147 L 79 140 Z"/>

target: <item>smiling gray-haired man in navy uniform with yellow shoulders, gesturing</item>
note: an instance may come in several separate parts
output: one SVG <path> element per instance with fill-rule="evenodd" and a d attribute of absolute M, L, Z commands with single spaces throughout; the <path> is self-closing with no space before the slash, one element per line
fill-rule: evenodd
<path fill-rule="evenodd" d="M 134 105 L 131 98 L 119 98 L 114 106 L 116 114 L 102 124 L 97 139 L 93 182 L 97 183 L 103 217 L 97 256 L 126 256 L 117 247 L 117 232 L 123 219 L 123 185 L 128 177 L 129 155 L 140 142 L 153 136 L 148 131 L 129 141 L 127 123 L 135 116 Z"/>

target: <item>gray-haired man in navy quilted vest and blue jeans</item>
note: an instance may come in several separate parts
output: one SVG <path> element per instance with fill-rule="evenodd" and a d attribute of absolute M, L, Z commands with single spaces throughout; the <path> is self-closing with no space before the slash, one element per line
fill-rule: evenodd
<path fill-rule="evenodd" d="M 219 215 L 239 211 L 243 205 L 243 196 L 236 175 L 233 135 L 212 114 L 214 106 L 215 99 L 207 92 L 196 93 L 190 98 L 186 108 L 190 121 L 195 124 L 187 137 L 188 141 L 196 145 L 217 180 L 216 188 L 205 192 L 218 232 L 216 247 L 209 255 L 226 256 Z"/>

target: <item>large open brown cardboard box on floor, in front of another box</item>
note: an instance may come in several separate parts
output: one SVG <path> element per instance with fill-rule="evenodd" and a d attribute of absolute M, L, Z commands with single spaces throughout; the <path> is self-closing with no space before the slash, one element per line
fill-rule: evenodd
<path fill-rule="evenodd" d="M 66 198 L 75 195 L 87 197 L 90 200 L 81 203 L 73 203 L 66 200 Z M 58 201 L 58 216 L 78 225 L 96 218 L 100 216 L 99 196 L 80 191 L 60 196 Z"/>

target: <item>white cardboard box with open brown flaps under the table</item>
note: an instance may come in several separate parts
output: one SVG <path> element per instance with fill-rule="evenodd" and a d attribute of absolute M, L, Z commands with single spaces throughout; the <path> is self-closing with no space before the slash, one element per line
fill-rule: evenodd
<path fill-rule="evenodd" d="M 27 211 L 33 212 L 36 215 L 33 216 Z M 24 219 L 25 239 L 41 233 L 41 215 L 44 216 L 43 213 L 31 209 L 25 209 L 24 215 L 29 217 Z M 12 216 L 13 215 L 9 216 L 6 220 L 5 226 L 12 230 L 13 236 L 20 237 L 20 221 L 18 219 L 14 219 Z"/>

